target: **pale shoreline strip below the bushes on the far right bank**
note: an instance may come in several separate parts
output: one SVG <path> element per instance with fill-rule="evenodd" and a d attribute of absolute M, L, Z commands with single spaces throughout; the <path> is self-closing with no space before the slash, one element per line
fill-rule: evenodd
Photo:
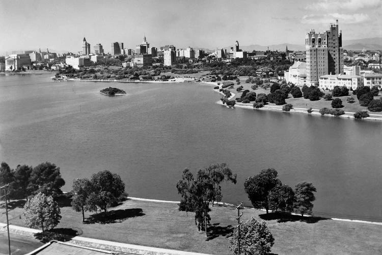
<path fill-rule="evenodd" d="M 212 82 L 210 84 L 212 85 Z M 215 84 L 215 86 L 218 86 L 218 85 Z M 222 87 L 222 85 L 219 85 L 219 89 L 221 87 Z M 219 89 L 213 89 L 213 91 L 215 91 L 217 93 L 220 93 L 220 94 L 223 94 L 221 91 L 219 91 Z M 232 93 L 232 96 L 230 98 L 228 98 L 228 99 L 231 100 L 234 96 L 235 96 L 235 94 Z M 217 101 L 216 104 L 222 105 L 222 106 L 226 106 L 226 105 L 223 104 L 222 101 Z M 334 115 L 331 115 L 331 114 L 321 115 L 319 113 L 319 109 L 312 109 L 312 112 L 308 113 L 307 109 L 305 109 L 305 108 L 298 108 L 297 107 L 297 108 L 292 108 L 289 112 L 286 112 L 286 111 L 283 111 L 283 107 L 282 106 L 265 105 L 262 108 L 256 109 L 256 108 L 253 108 L 253 103 L 243 104 L 243 103 L 237 103 L 237 102 L 236 102 L 234 107 L 243 108 L 243 109 L 251 109 L 251 110 L 276 111 L 276 112 L 285 112 L 285 113 L 292 113 L 292 112 L 294 112 L 294 113 L 304 113 L 304 114 L 317 115 L 317 116 L 328 116 L 328 117 L 340 117 L 340 118 L 346 118 L 346 119 L 355 119 L 354 118 L 354 113 L 355 112 L 345 112 L 345 114 L 340 115 L 340 116 L 334 116 Z M 367 111 L 367 112 L 369 113 L 370 116 L 367 117 L 367 118 L 360 119 L 360 120 L 382 121 L 382 114 L 374 114 L 374 113 L 370 113 L 369 111 Z"/>

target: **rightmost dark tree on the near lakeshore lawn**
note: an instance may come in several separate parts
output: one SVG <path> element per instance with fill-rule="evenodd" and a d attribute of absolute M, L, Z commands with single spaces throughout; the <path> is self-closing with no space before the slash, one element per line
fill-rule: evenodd
<path fill-rule="evenodd" d="M 313 192 L 317 192 L 317 190 L 311 183 L 302 182 L 296 185 L 293 207 L 301 216 L 312 213 L 312 202 L 316 199 Z"/>

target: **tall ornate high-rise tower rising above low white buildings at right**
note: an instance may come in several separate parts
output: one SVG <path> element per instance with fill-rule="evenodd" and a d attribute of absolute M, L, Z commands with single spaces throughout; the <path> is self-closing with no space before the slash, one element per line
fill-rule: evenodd
<path fill-rule="evenodd" d="M 319 77 L 326 74 L 343 72 L 342 31 L 336 24 L 330 24 L 330 30 L 318 33 L 311 30 L 305 37 L 307 51 L 307 82 L 318 85 Z"/>

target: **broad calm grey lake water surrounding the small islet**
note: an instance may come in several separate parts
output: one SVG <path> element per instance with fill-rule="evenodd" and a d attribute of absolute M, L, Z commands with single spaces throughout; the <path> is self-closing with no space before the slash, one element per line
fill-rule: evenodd
<path fill-rule="evenodd" d="M 203 84 L 50 76 L 0 77 L 0 160 L 12 168 L 55 163 L 65 191 L 73 179 L 108 169 L 131 196 L 179 200 L 184 168 L 226 162 L 238 182 L 223 186 L 223 201 L 245 205 L 245 178 L 275 168 L 292 187 L 315 185 L 317 216 L 382 221 L 382 122 L 227 109 Z M 108 86 L 128 94 L 99 94 Z"/>

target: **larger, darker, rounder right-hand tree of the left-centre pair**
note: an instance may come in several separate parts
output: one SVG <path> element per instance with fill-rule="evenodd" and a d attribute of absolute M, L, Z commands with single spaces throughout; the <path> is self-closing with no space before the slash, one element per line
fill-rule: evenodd
<path fill-rule="evenodd" d="M 113 202 L 118 201 L 119 197 L 125 192 L 125 184 L 121 176 L 108 170 L 93 173 L 90 182 L 94 192 L 88 199 L 89 208 L 99 207 L 106 212 L 107 208 L 112 206 Z"/>

